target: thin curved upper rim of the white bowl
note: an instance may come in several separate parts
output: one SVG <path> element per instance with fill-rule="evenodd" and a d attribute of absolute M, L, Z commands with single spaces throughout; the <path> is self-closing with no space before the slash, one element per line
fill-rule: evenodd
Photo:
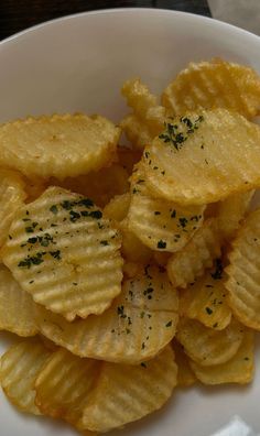
<path fill-rule="evenodd" d="M 68 15 L 63 15 L 63 17 L 57 17 L 55 19 L 51 19 L 47 21 L 44 21 L 42 23 L 32 25 L 30 28 L 26 28 L 20 32 L 17 32 L 2 41 L 0 41 L 0 48 L 3 46 L 10 44 L 10 43 L 15 43 L 17 40 L 23 36 L 28 36 L 30 33 L 34 33 L 39 30 L 42 30 L 44 28 L 48 26 L 55 26 L 56 24 L 64 22 L 64 21 L 71 21 L 75 20 L 78 18 L 84 18 L 84 17 L 89 17 L 89 15 L 106 15 L 106 14 L 121 14 L 121 13 L 141 13 L 141 14 L 154 14 L 154 15 L 160 15 L 160 14 L 167 14 L 172 15 L 173 18 L 181 18 L 183 20 L 187 20 L 189 22 L 197 22 L 197 23 L 203 23 L 203 24 L 210 24 L 212 28 L 216 28 L 218 30 L 224 30 L 224 31 L 230 31 L 232 33 L 237 33 L 242 37 L 251 39 L 253 43 L 260 43 L 260 36 L 258 36 L 254 33 L 251 33 L 245 29 L 241 29 L 239 26 L 236 26 L 234 24 L 229 24 L 227 22 L 216 20 L 210 17 L 205 17 L 192 12 L 184 12 L 184 11 L 176 11 L 176 10 L 171 10 L 171 9 L 162 9 L 162 8 L 107 8 L 107 9 L 98 9 L 98 10 L 91 10 L 91 11 L 84 11 L 84 12 L 77 12 L 77 13 L 72 13 Z"/>

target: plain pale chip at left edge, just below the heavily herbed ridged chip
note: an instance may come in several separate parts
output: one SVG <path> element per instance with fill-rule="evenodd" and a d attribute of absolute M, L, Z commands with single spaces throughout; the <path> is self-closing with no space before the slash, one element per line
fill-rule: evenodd
<path fill-rule="evenodd" d="M 35 303 L 31 295 L 21 288 L 11 272 L 0 264 L 0 330 L 19 336 L 34 336 Z"/>

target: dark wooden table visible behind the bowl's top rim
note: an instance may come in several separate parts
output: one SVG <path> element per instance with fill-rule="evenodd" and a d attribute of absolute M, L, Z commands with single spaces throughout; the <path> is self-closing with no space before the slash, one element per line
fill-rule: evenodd
<path fill-rule="evenodd" d="M 131 7 L 172 9 L 210 17 L 207 0 L 0 0 L 0 40 L 71 13 Z"/>

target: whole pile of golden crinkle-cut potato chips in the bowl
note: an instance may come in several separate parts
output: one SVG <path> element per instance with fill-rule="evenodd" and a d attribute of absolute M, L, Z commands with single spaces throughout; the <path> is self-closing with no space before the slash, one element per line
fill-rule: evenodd
<path fill-rule="evenodd" d="M 21 411 L 85 435 L 176 386 L 249 383 L 260 330 L 260 77 L 213 59 L 161 106 L 139 79 L 122 95 L 120 127 L 0 126 L 0 329 L 23 337 L 0 382 Z"/>

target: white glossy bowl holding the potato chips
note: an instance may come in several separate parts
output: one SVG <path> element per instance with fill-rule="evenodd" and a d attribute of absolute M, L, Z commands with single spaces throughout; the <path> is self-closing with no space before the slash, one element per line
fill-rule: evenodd
<path fill-rule="evenodd" d="M 260 72 L 259 53 L 260 37 L 193 14 L 121 9 L 67 17 L 0 44 L 0 121 L 80 110 L 118 121 L 126 112 L 120 87 L 129 77 L 160 92 L 189 61 L 221 56 Z M 161 412 L 121 434 L 208 436 L 235 414 L 260 432 L 259 399 L 259 374 L 247 388 L 176 391 Z M 74 435 L 63 424 L 19 414 L 3 396 L 0 423 L 3 436 Z"/>

